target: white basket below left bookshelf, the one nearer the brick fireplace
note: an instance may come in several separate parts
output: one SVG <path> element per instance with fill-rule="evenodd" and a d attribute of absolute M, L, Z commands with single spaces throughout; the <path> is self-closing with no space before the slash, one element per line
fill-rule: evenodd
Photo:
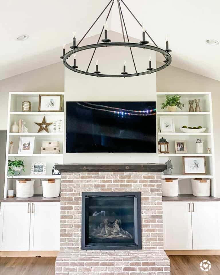
<path fill-rule="evenodd" d="M 42 180 L 43 197 L 45 198 L 56 198 L 60 195 L 60 179 Z"/>

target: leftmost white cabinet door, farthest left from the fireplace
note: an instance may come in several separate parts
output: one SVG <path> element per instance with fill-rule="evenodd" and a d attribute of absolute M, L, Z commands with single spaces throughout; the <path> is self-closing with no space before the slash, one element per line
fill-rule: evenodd
<path fill-rule="evenodd" d="M 1 202 L 1 251 L 29 250 L 30 205 L 28 202 Z"/>

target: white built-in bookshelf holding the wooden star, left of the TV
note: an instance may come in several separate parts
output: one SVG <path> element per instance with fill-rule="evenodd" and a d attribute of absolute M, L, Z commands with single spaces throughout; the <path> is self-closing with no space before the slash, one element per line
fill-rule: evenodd
<path fill-rule="evenodd" d="M 62 111 L 61 112 L 39 112 L 39 95 L 62 95 Z M 30 101 L 32 103 L 31 112 L 22 112 L 22 102 Z M 42 194 L 41 180 L 46 178 L 61 178 L 60 175 L 52 175 L 52 168 L 55 163 L 63 163 L 63 145 L 64 133 L 53 132 L 52 124 L 48 126 L 49 132 L 42 131 L 38 133 L 39 126 L 34 122 L 42 122 L 45 116 L 46 122 L 55 122 L 62 120 L 62 129 L 64 129 L 64 92 L 61 93 L 46 93 L 46 92 L 10 92 L 8 102 L 8 120 L 7 120 L 7 143 L 6 143 L 6 167 L 5 167 L 5 185 L 4 185 L 4 198 L 7 197 L 7 190 L 14 190 L 16 193 L 16 179 L 35 179 L 34 194 Z M 12 133 L 11 125 L 14 121 L 19 119 L 26 122 L 25 126 L 28 128 L 26 133 Z M 19 154 L 19 139 L 21 136 L 34 136 L 34 153 L 33 154 Z M 13 142 L 13 153 L 9 154 L 10 142 Z M 59 154 L 41 154 L 41 147 L 43 141 L 59 141 L 60 153 Z M 8 176 L 7 163 L 8 160 L 21 159 L 25 164 L 25 172 L 17 176 Z M 46 162 L 46 175 L 30 175 L 32 162 Z"/>

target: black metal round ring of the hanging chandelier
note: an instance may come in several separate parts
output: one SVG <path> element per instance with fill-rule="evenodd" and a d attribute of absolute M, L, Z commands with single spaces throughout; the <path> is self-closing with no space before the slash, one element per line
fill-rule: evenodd
<path fill-rule="evenodd" d="M 132 73 L 132 74 L 96 74 L 96 73 L 90 73 L 87 71 L 82 71 L 79 69 L 76 69 L 72 66 L 70 66 L 67 63 L 67 59 L 74 53 L 76 52 L 80 52 L 83 50 L 89 50 L 89 49 L 94 49 L 94 48 L 101 48 L 101 47 L 117 47 L 117 46 L 123 46 L 123 47 L 136 47 L 136 48 L 144 48 L 144 49 L 149 49 L 149 50 L 154 50 L 156 52 L 160 52 L 162 55 L 165 56 L 166 58 L 166 63 L 164 63 L 164 65 L 162 65 L 161 67 L 158 67 L 156 69 L 152 69 L 150 71 L 144 71 L 144 72 L 140 72 L 140 73 Z M 98 44 L 91 44 L 91 45 L 86 45 L 86 46 L 82 46 L 82 47 L 78 47 L 75 48 L 73 50 L 70 50 L 69 52 L 67 52 L 64 56 L 63 56 L 63 64 L 70 70 L 75 71 L 77 73 L 82 73 L 84 75 L 91 75 L 91 76 L 96 76 L 96 77 L 131 77 L 131 76 L 137 76 L 137 75 L 146 75 L 148 73 L 154 73 L 157 71 L 160 71 L 162 69 L 165 69 L 167 66 L 170 65 L 172 61 L 171 55 L 169 54 L 169 52 L 167 52 L 166 50 L 163 50 L 161 48 L 158 48 L 156 46 L 151 46 L 148 44 L 138 44 L 138 43 L 130 43 L 130 42 L 108 42 L 108 43 L 98 43 Z"/>

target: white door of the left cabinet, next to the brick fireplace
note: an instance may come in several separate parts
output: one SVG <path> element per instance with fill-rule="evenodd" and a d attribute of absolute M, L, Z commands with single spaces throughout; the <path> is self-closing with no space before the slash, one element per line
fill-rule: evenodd
<path fill-rule="evenodd" d="M 30 250 L 60 250 L 60 202 L 32 202 Z"/>

